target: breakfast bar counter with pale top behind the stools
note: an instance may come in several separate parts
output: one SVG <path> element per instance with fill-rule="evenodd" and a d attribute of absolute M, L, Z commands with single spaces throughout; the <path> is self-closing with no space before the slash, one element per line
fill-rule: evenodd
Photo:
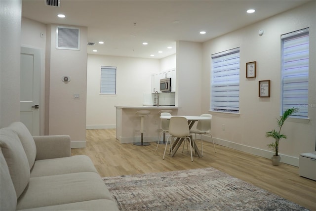
<path fill-rule="evenodd" d="M 160 132 L 160 113 L 161 110 L 172 110 L 172 115 L 177 115 L 176 106 L 115 106 L 116 107 L 116 138 L 120 143 L 139 142 L 140 117 L 135 113 L 140 110 L 151 112 L 144 118 L 144 142 L 156 142 Z"/>

